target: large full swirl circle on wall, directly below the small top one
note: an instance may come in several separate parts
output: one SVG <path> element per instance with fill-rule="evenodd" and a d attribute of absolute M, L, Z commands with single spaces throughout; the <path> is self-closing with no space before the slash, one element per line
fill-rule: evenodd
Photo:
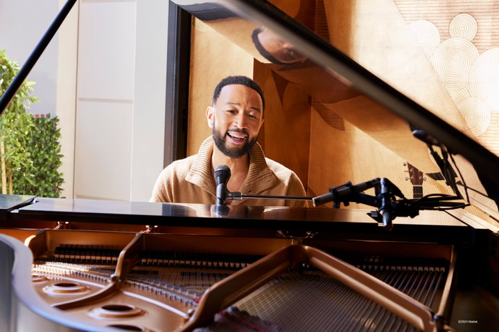
<path fill-rule="evenodd" d="M 478 55 L 478 49 L 468 39 L 450 38 L 437 47 L 432 64 L 448 88 L 464 89 Z"/>

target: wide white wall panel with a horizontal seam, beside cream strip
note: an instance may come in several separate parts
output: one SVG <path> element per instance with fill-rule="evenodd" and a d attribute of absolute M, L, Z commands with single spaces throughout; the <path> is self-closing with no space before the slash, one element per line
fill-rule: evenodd
<path fill-rule="evenodd" d="M 74 194 L 130 197 L 135 1 L 80 1 Z"/>

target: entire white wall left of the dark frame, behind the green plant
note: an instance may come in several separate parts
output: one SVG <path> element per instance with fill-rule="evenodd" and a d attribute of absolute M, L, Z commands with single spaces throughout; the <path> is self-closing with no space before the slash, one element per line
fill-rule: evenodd
<path fill-rule="evenodd" d="M 0 48 L 22 64 L 65 2 L 0 0 Z M 40 59 L 53 78 L 30 80 L 57 104 L 64 196 L 148 201 L 164 160 L 167 28 L 167 0 L 80 0 Z"/>

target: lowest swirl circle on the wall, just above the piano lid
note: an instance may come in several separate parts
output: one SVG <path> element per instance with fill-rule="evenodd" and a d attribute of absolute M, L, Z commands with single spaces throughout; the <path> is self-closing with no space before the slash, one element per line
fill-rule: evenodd
<path fill-rule="evenodd" d="M 468 98 L 457 105 L 475 136 L 487 131 L 491 124 L 491 112 L 487 103 L 480 98 Z"/>

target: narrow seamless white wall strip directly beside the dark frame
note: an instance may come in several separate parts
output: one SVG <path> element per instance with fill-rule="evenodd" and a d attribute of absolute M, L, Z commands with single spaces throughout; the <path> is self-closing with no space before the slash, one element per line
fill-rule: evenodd
<path fill-rule="evenodd" d="M 168 3 L 137 1 L 130 200 L 149 200 L 163 169 Z"/>

